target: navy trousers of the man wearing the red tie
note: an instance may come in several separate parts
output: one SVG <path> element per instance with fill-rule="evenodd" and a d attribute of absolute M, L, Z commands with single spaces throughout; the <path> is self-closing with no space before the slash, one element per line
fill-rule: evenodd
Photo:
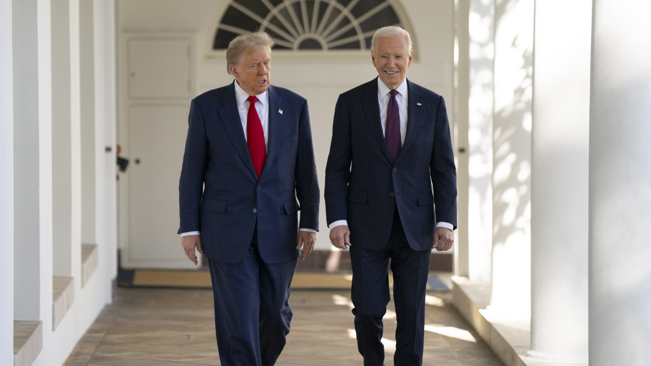
<path fill-rule="evenodd" d="M 257 230 L 240 262 L 208 259 L 222 366 L 276 363 L 292 320 L 288 300 L 297 260 L 264 262 L 258 251 Z"/>

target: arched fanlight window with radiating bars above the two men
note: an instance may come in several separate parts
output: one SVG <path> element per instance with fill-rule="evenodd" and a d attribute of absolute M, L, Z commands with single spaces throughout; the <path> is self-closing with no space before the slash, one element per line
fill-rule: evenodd
<path fill-rule="evenodd" d="M 376 29 L 409 31 L 395 0 L 232 0 L 221 17 L 213 49 L 226 49 L 238 35 L 265 31 L 275 49 L 370 49 Z"/>

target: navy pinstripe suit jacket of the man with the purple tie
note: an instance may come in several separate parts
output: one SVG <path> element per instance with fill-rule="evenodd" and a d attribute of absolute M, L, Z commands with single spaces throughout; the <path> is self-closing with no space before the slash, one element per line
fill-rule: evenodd
<path fill-rule="evenodd" d="M 326 214 L 328 225 L 348 221 L 353 246 L 386 246 L 396 204 L 414 250 L 432 249 L 437 220 L 456 227 L 456 168 L 445 102 L 407 83 L 407 134 L 395 164 L 382 134 L 377 78 L 337 101 Z"/>

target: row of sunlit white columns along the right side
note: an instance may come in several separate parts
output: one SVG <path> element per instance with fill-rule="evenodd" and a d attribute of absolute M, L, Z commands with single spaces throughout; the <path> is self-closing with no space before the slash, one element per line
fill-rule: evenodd
<path fill-rule="evenodd" d="M 456 10 L 456 106 L 467 107 L 465 120 L 457 113 L 458 132 L 467 129 L 458 144 L 469 152 L 458 160 L 469 198 L 460 199 L 467 232 L 456 274 L 490 281 L 487 311 L 531 322 L 527 362 L 646 365 L 651 5 L 552 0 L 534 12 L 533 0 L 459 0 Z M 480 68 L 482 57 L 492 70 Z M 483 124 L 480 85 L 493 97 L 482 98 L 492 104 Z M 480 185 L 480 170 L 490 185 Z M 484 186 L 491 198 L 478 200 Z M 489 259 L 477 250 L 486 223 Z"/>

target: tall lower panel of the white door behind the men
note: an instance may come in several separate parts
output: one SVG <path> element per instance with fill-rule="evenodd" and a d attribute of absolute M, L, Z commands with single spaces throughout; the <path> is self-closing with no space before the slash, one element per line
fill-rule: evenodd
<path fill-rule="evenodd" d="M 176 231 L 178 179 L 189 106 L 129 108 L 129 255 L 131 262 L 180 262 L 193 267 Z"/>

